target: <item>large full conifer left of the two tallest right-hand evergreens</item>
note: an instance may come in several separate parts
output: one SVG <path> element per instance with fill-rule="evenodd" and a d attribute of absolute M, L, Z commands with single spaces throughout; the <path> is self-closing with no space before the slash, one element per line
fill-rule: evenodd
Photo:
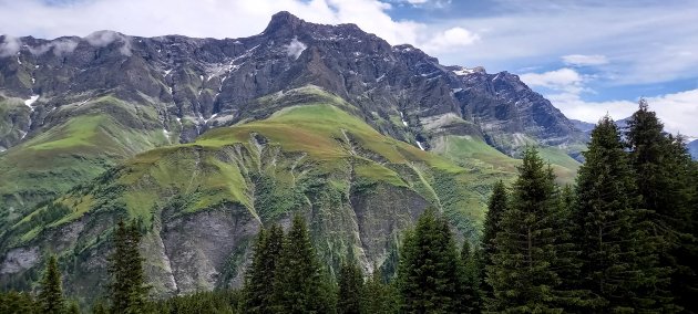
<path fill-rule="evenodd" d="M 568 243 L 558 227 L 564 216 L 554 176 L 535 148 L 524 153 L 510 208 L 501 216 L 494 239 L 496 251 L 486 266 L 493 287 L 490 311 L 561 312 L 571 292 L 558 272 L 571 266 L 558 260 Z"/>

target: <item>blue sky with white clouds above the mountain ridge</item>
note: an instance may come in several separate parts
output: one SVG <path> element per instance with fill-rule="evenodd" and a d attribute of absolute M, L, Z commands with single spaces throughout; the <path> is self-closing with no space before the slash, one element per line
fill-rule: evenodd
<path fill-rule="evenodd" d="M 281 10 L 517 74 L 569 118 L 625 118 L 645 97 L 669 132 L 698 136 L 695 0 L 0 0 L 0 33 L 240 38 Z"/>

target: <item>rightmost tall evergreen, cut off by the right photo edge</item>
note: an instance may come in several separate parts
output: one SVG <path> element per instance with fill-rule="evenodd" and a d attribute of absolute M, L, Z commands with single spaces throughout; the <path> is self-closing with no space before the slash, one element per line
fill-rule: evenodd
<path fill-rule="evenodd" d="M 696 312 L 698 278 L 691 268 L 698 263 L 698 254 L 690 249 L 696 245 L 691 236 L 695 227 L 691 157 L 680 137 L 664 132 L 664 125 L 645 100 L 628 119 L 626 138 L 641 196 L 640 207 L 648 212 L 653 234 L 667 243 L 661 245 L 659 262 L 673 270 L 671 295 L 680 306 Z"/>

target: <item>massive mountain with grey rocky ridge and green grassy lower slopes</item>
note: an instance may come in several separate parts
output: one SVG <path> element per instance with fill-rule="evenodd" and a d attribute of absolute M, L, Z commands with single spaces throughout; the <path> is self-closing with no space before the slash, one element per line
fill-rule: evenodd
<path fill-rule="evenodd" d="M 3 286 L 30 284 L 52 251 L 82 265 L 66 289 L 93 297 L 120 217 L 143 222 L 158 295 L 239 284 L 256 231 L 294 212 L 330 270 L 351 251 L 390 274 L 425 207 L 474 240 L 525 145 L 567 181 L 584 147 L 516 75 L 353 24 L 280 12 L 244 39 L 20 41 L 0 57 Z"/>

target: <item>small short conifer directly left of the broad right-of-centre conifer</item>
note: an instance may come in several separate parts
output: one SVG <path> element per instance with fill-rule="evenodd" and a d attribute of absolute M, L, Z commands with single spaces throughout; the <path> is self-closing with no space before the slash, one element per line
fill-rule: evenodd
<path fill-rule="evenodd" d="M 383 282 L 380 270 L 373 265 L 373 273 L 367 279 L 363 293 L 363 313 L 398 313 L 398 291 Z"/>

